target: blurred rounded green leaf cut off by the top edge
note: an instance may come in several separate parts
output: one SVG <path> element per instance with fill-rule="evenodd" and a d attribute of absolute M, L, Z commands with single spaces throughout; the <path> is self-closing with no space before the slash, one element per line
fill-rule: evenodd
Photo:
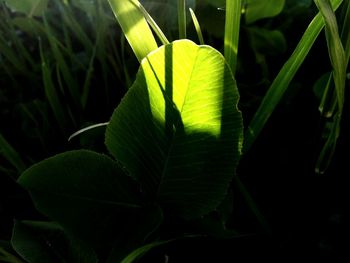
<path fill-rule="evenodd" d="M 252 24 L 263 18 L 274 17 L 282 12 L 285 0 L 247 0 L 245 21 Z"/>

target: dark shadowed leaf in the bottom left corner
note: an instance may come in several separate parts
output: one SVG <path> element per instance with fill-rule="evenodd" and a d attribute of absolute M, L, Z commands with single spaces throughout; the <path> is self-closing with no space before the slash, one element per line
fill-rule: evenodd
<path fill-rule="evenodd" d="M 93 249 L 51 222 L 16 221 L 11 243 L 27 262 L 96 263 Z"/>

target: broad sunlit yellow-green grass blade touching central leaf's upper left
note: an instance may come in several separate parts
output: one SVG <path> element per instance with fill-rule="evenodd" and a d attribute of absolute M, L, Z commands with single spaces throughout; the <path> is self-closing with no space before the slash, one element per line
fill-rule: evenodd
<path fill-rule="evenodd" d="M 108 2 L 139 61 L 158 48 L 137 0 L 108 0 Z"/>

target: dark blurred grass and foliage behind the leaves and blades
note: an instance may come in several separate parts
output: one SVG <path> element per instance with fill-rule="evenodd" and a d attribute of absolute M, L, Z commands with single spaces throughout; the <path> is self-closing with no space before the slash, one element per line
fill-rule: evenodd
<path fill-rule="evenodd" d="M 176 1 L 140 2 L 169 40 L 177 39 Z M 311 0 L 271 3 L 265 10 L 264 0 L 246 0 L 242 10 L 236 80 L 245 124 L 317 13 Z M 192 0 L 187 5 L 195 10 L 205 43 L 223 52 L 225 1 Z M 68 137 L 108 121 L 139 64 L 107 1 L 0 0 L 0 18 L 0 240 L 9 240 L 14 218 L 41 217 L 14 180 L 59 152 L 105 152 L 103 127 L 71 141 Z M 187 21 L 188 38 L 198 42 Z M 349 242 L 341 243 L 339 237 L 349 234 L 349 194 L 341 176 L 348 158 L 341 153 L 349 136 L 339 139 L 339 154 L 329 169 L 332 179 L 314 174 L 325 136 L 317 108 L 330 71 L 326 43 L 317 40 L 238 173 L 281 238 L 281 253 L 309 250 L 308 256 L 317 253 L 320 260 L 343 260 Z M 349 118 L 348 106 L 343 118 Z M 349 134 L 343 126 L 342 134 Z M 232 227 L 251 231 L 255 223 L 247 220 L 246 208 L 238 204 L 235 209 Z M 258 248 L 261 243 L 254 239 L 249 244 Z M 268 253 L 276 244 L 270 245 L 259 251 Z M 186 243 L 182 246 L 186 251 Z"/>

